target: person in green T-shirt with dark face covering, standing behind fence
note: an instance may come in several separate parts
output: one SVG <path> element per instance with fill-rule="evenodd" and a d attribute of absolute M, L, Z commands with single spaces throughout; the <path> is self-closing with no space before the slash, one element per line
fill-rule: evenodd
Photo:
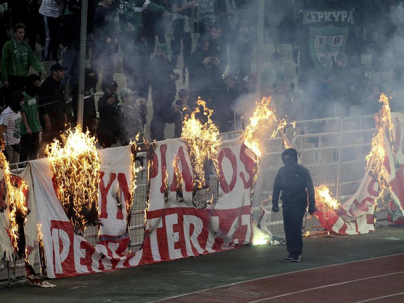
<path fill-rule="evenodd" d="M 39 132 L 41 126 L 38 115 L 38 93 L 40 78 L 31 74 L 27 77 L 24 95 L 24 105 L 21 108 L 21 153 L 20 162 L 38 158 Z"/>

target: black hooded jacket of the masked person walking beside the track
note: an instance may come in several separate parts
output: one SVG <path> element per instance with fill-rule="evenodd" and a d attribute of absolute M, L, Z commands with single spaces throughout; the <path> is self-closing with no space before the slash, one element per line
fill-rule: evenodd
<path fill-rule="evenodd" d="M 282 161 L 285 166 L 279 169 L 275 177 L 272 204 L 278 204 L 279 194 L 282 191 L 283 209 L 307 203 L 308 193 L 310 205 L 315 205 L 312 177 L 306 167 L 297 164 L 296 149 L 285 149 L 282 153 Z"/>

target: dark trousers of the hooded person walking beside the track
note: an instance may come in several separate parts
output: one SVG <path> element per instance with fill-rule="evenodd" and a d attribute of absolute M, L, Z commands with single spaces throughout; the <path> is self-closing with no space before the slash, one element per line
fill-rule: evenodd
<path fill-rule="evenodd" d="M 283 203 L 285 205 L 285 202 Z M 303 238 L 301 236 L 301 227 L 303 217 L 305 216 L 307 201 L 299 203 L 287 203 L 283 209 L 283 227 L 286 236 L 286 248 L 289 254 L 298 256 L 302 252 Z"/>

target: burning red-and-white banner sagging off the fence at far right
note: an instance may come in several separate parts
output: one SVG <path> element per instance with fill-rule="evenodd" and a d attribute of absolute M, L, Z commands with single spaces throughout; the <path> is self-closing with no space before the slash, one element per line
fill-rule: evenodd
<path fill-rule="evenodd" d="M 404 223 L 404 115 L 390 113 L 388 98 L 382 94 L 382 109 L 376 115 L 377 132 L 367 157 L 367 169 L 354 195 L 340 208 L 328 199 L 317 199 L 320 223 L 338 234 L 374 231 L 377 201 L 386 207 L 391 221 Z M 317 193 L 317 192 L 316 192 Z"/>

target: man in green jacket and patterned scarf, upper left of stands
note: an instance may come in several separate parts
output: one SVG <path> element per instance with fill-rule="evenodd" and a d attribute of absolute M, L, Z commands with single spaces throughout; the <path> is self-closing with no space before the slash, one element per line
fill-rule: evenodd
<path fill-rule="evenodd" d="M 2 51 L 2 80 L 9 90 L 24 90 L 25 78 L 30 66 L 39 74 L 43 66 L 35 57 L 31 47 L 24 41 L 25 25 L 17 23 L 14 26 L 14 37 L 3 45 Z M 7 99 L 7 98 L 6 98 Z"/>

